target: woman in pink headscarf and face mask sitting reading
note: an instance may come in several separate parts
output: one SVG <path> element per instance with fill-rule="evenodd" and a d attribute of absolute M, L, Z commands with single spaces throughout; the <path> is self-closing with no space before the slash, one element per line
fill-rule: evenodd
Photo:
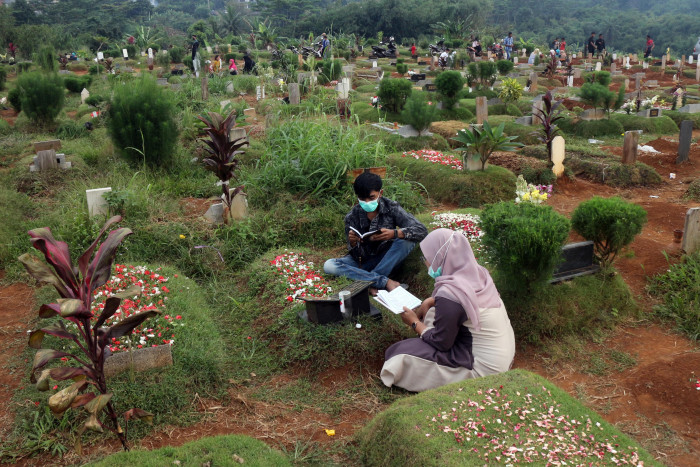
<path fill-rule="evenodd" d="M 420 337 L 386 350 L 382 382 L 424 391 L 508 371 L 515 355 L 513 328 L 488 270 L 476 262 L 467 239 L 437 229 L 420 248 L 435 288 L 416 311 L 404 307 L 401 319 Z"/>

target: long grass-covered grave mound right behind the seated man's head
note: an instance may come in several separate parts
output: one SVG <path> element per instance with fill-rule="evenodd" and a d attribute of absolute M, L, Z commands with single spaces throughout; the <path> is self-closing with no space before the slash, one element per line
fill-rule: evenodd
<path fill-rule="evenodd" d="M 423 185 L 428 196 L 438 202 L 481 207 L 515 198 L 515 175 L 502 167 L 492 165 L 485 171 L 462 172 L 401 155 L 390 156 L 389 165 Z"/>

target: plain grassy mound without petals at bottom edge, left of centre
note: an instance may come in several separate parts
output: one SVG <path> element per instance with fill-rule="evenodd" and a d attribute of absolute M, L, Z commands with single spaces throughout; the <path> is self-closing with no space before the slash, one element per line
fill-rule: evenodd
<path fill-rule="evenodd" d="M 238 460 L 241 459 L 241 460 Z M 154 451 L 120 452 L 88 465 L 93 467 L 163 467 L 166 465 L 238 465 L 291 466 L 280 451 L 262 441 L 242 435 L 214 436 Z"/>

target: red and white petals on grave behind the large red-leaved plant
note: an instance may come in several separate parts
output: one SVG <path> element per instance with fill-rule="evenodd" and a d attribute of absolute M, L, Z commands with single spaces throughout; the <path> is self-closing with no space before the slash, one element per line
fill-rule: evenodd
<path fill-rule="evenodd" d="M 161 275 L 160 271 L 161 268 L 152 270 L 146 266 L 115 264 L 114 275 L 93 293 L 95 301 L 92 306 L 92 321 L 97 321 L 97 317 L 107 306 L 107 299 L 110 296 L 124 293 L 134 286 L 141 289 L 141 294 L 122 299 L 117 311 L 105 321 L 106 325 L 119 323 L 132 315 L 148 310 L 164 311 L 170 289 L 166 285 L 168 278 Z M 184 326 L 181 315 L 172 316 L 161 313 L 149 320 L 148 325 L 134 328 L 131 334 L 112 338 L 107 347 L 114 353 L 143 347 L 172 345 L 175 342 L 174 332 L 177 326 Z"/>

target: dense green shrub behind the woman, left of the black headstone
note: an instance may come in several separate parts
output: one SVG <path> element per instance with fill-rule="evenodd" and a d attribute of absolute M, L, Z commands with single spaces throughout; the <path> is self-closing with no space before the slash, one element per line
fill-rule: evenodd
<path fill-rule="evenodd" d="M 482 241 L 496 267 L 494 280 L 506 307 L 511 300 L 534 298 L 533 292 L 552 278 L 569 228 L 569 220 L 551 206 L 508 201 L 482 211 Z"/>

